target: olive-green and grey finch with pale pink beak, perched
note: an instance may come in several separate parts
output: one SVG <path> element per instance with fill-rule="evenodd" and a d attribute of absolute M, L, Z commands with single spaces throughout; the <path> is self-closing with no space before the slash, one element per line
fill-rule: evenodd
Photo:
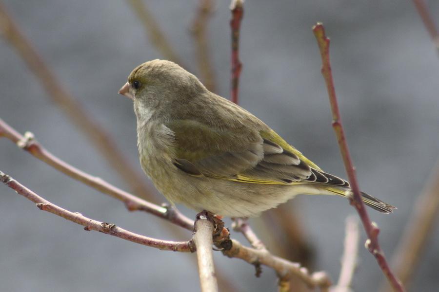
<path fill-rule="evenodd" d="M 352 194 L 347 181 L 321 170 L 174 62 L 141 64 L 119 93 L 133 101 L 141 167 L 173 205 L 255 217 L 298 194 Z M 366 193 L 361 197 L 381 213 L 396 209 Z"/>

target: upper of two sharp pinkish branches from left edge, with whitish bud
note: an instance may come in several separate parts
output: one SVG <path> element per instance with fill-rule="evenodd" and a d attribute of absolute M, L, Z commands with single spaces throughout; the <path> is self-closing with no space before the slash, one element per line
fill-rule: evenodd
<path fill-rule="evenodd" d="M 0 137 L 6 137 L 23 150 L 28 151 L 33 156 L 37 157 L 41 161 L 49 164 L 53 168 L 68 175 L 69 177 L 85 183 L 98 191 L 110 195 L 115 199 L 123 201 L 130 211 L 143 210 L 162 219 L 167 219 L 174 224 L 177 224 L 188 230 L 192 230 L 194 222 L 184 217 L 179 211 L 174 208 L 160 207 L 148 201 L 144 201 L 136 196 L 133 196 L 114 185 L 105 182 L 99 177 L 91 176 L 76 167 L 60 160 L 58 157 L 47 151 L 40 143 L 37 142 L 34 135 L 27 132 L 24 137 L 20 135 L 15 129 L 7 125 L 0 119 Z"/>

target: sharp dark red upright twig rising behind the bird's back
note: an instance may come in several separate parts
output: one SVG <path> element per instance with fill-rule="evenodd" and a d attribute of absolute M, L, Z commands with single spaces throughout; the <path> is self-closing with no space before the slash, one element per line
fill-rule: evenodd
<path fill-rule="evenodd" d="M 238 104 L 239 75 L 242 69 L 242 63 L 239 61 L 239 30 L 244 15 L 243 4 L 243 0 L 232 0 L 232 4 L 230 5 L 230 9 L 232 10 L 232 19 L 230 20 L 230 27 L 232 29 L 232 86 L 230 89 L 230 100 L 236 104 Z"/>

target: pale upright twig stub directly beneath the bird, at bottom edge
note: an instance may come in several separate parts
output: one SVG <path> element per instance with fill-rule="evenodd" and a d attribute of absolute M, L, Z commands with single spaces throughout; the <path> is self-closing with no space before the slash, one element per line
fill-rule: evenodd
<path fill-rule="evenodd" d="M 218 291 L 218 283 L 212 253 L 214 225 L 205 214 L 200 213 L 195 220 L 194 229 L 195 234 L 192 239 L 197 247 L 201 291 L 216 292 Z"/>

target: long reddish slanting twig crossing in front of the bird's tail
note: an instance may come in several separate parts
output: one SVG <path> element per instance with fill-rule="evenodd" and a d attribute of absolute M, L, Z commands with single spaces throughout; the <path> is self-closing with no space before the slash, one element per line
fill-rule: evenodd
<path fill-rule="evenodd" d="M 351 189 L 353 193 L 353 196 L 352 197 L 350 196 L 349 200 L 351 201 L 351 204 L 357 209 L 361 222 L 363 223 L 363 227 L 366 231 L 367 236 L 369 237 L 366 240 L 366 248 L 369 250 L 369 252 L 371 252 L 375 256 L 379 267 L 381 268 L 383 274 L 387 277 L 387 280 L 391 283 L 393 289 L 395 291 L 402 292 L 404 291 L 404 287 L 390 270 L 389 264 L 387 263 L 387 259 L 385 258 L 384 253 L 381 250 L 381 247 L 379 246 L 378 225 L 375 222 L 372 223 L 370 221 L 369 215 L 367 214 L 367 211 L 364 207 L 364 203 L 361 200 L 355 169 L 349 154 L 346 138 L 344 136 L 344 131 L 341 125 L 340 112 L 337 105 L 337 97 L 335 93 L 334 81 L 332 78 L 331 65 L 329 61 L 329 38 L 325 36 L 324 28 L 321 23 L 317 23 L 313 27 L 313 32 L 319 44 L 320 55 L 322 60 L 321 72 L 326 82 L 326 89 L 328 91 L 329 102 L 331 104 L 331 111 L 333 117 L 332 126 L 337 136 L 337 141 L 339 143 L 341 156 L 343 157 L 344 167 L 346 169 L 346 173 L 349 182 L 351 184 Z"/>

